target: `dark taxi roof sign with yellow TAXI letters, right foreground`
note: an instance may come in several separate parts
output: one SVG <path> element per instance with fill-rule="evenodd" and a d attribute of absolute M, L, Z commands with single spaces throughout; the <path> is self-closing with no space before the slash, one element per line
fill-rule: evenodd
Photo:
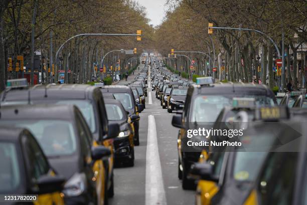
<path fill-rule="evenodd" d="M 260 107 L 255 111 L 256 120 L 277 121 L 288 119 L 290 116 L 287 106 Z"/>

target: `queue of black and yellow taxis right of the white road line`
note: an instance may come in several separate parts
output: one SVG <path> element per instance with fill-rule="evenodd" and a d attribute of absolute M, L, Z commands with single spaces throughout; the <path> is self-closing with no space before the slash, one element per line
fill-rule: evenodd
<path fill-rule="evenodd" d="M 196 190 L 195 204 L 307 204 L 306 94 L 275 96 L 264 85 L 217 84 L 210 77 L 192 84 L 179 78 L 161 67 L 151 71 L 152 91 L 171 112 L 179 108 L 171 109 L 170 99 L 188 85 L 183 111 L 176 111 L 172 124 L 180 128 L 178 177 L 183 189 Z M 241 138 L 211 134 L 193 140 L 239 140 L 244 148 L 188 147 L 188 131 L 200 127 L 241 128 Z"/>

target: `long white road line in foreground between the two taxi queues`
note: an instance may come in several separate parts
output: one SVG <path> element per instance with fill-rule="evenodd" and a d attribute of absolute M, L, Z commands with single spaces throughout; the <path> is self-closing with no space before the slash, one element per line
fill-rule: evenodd
<path fill-rule="evenodd" d="M 145 180 L 145 205 L 167 205 L 158 149 L 156 121 L 153 115 L 148 115 Z"/>

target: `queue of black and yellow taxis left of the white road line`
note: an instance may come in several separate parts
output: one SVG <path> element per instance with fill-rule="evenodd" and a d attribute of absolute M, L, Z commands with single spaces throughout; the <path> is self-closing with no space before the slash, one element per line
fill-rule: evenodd
<path fill-rule="evenodd" d="M 38 194 L 34 203 L 44 205 L 108 204 L 113 168 L 134 165 L 146 75 L 137 79 L 137 93 L 9 80 L 0 99 L 0 193 Z"/>

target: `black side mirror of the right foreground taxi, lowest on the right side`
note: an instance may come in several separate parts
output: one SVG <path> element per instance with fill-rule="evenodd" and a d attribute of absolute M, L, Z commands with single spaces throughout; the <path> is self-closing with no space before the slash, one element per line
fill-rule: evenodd
<path fill-rule="evenodd" d="M 213 174 L 213 166 L 208 162 L 192 164 L 189 178 L 218 182 L 218 177 Z"/>

